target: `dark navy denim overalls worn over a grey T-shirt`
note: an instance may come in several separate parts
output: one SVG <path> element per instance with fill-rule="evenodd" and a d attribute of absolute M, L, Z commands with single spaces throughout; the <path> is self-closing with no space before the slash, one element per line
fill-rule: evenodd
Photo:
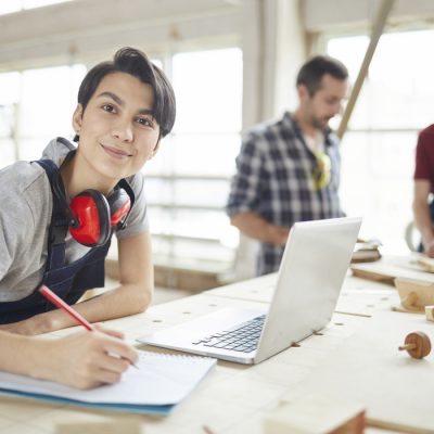
<path fill-rule="evenodd" d="M 50 179 L 50 184 L 52 184 L 53 174 L 58 170 L 56 165 L 50 159 L 40 159 L 36 163 L 43 167 Z M 104 245 L 92 247 L 80 259 L 65 265 L 65 237 L 67 230 L 68 220 L 64 208 L 56 199 L 56 195 L 53 194 L 53 213 L 48 239 L 48 256 L 40 284 L 43 283 L 67 304 L 72 305 L 87 290 L 104 286 L 104 259 L 107 255 L 111 240 Z M 0 323 L 21 321 L 54 309 L 55 306 L 39 294 L 38 289 L 40 284 L 30 295 L 23 299 L 0 303 Z"/>

